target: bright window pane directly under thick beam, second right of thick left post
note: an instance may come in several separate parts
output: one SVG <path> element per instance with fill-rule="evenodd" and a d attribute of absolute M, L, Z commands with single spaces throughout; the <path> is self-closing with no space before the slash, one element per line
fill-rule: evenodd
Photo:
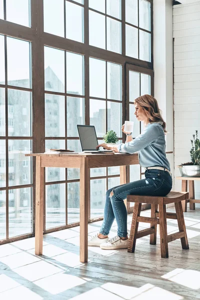
<path fill-rule="evenodd" d="M 66 52 L 66 89 L 68 93 L 84 94 L 83 56 Z"/>

